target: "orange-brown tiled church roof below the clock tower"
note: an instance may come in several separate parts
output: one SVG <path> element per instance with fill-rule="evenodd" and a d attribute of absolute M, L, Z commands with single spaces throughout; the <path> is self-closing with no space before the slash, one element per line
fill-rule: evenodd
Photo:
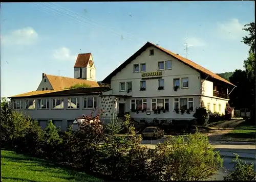
<path fill-rule="evenodd" d="M 88 81 L 83 79 L 73 79 L 72 77 L 64 77 L 64 76 L 55 76 L 46 74 L 50 84 L 52 85 L 54 90 L 62 90 L 70 88 L 75 84 L 88 84 L 91 87 L 99 87 L 99 84 L 96 81 Z"/>

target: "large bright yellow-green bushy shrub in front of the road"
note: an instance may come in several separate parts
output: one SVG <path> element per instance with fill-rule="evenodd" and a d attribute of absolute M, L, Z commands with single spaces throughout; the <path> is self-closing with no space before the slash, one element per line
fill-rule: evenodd
<path fill-rule="evenodd" d="M 207 136 L 199 133 L 187 135 L 186 142 L 183 136 L 170 137 L 151 150 L 151 157 L 147 180 L 203 180 L 214 175 L 223 163 Z"/>

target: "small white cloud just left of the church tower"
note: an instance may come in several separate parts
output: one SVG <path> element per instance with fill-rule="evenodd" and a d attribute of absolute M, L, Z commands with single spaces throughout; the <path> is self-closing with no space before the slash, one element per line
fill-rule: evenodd
<path fill-rule="evenodd" d="M 67 47 L 60 47 L 53 51 L 53 58 L 60 61 L 75 61 L 76 55 L 71 55 L 70 49 Z"/>

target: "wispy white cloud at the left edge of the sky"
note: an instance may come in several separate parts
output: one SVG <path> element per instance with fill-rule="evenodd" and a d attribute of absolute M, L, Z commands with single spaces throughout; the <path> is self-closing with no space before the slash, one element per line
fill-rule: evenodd
<path fill-rule="evenodd" d="M 1 44 L 4 45 L 32 45 L 38 39 L 38 34 L 31 27 L 18 29 L 6 35 L 1 35 Z"/>

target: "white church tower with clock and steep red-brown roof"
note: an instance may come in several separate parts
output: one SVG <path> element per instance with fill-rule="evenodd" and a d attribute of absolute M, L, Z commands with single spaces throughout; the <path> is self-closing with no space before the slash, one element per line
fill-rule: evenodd
<path fill-rule="evenodd" d="M 96 81 L 96 68 L 91 53 L 78 54 L 74 65 L 74 79 Z"/>

